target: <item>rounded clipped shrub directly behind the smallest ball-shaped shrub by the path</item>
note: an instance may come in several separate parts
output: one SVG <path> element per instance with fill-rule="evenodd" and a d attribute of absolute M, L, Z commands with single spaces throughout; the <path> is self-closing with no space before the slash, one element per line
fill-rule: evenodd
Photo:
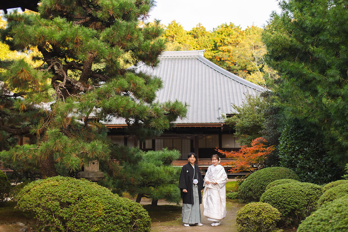
<path fill-rule="evenodd" d="M 280 224 L 296 226 L 315 210 L 321 194 L 322 187 L 319 185 L 290 182 L 270 187 L 260 201 L 279 210 Z"/>

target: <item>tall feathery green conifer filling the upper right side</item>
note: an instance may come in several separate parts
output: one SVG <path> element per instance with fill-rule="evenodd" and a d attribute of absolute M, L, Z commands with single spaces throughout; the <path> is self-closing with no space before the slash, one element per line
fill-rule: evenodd
<path fill-rule="evenodd" d="M 315 131 L 340 166 L 348 163 L 346 0 L 279 1 L 262 35 L 286 119 Z"/>

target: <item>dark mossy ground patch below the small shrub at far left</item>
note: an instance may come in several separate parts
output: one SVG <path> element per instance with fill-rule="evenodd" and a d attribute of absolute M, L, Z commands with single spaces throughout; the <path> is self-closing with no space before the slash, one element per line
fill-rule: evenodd
<path fill-rule="evenodd" d="M 16 209 L 16 205 L 13 201 L 0 202 L 0 224 L 32 221 L 32 218 L 26 217 L 21 210 Z"/>

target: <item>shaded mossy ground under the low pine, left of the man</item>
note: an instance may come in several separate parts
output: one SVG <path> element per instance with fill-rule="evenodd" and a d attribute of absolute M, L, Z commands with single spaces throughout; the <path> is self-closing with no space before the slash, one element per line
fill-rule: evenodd
<path fill-rule="evenodd" d="M 181 218 L 181 206 L 175 205 L 144 205 L 149 213 L 152 222 L 168 222 Z"/>

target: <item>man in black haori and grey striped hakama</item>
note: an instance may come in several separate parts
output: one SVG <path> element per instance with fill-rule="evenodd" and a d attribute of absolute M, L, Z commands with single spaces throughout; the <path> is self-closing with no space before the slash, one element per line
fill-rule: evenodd
<path fill-rule="evenodd" d="M 189 153 L 187 157 L 189 162 L 182 167 L 179 179 L 182 198 L 182 222 L 184 226 L 190 226 L 190 224 L 202 226 L 199 204 L 202 203 L 200 193 L 203 191 L 203 177 L 195 164 L 196 154 Z"/>

